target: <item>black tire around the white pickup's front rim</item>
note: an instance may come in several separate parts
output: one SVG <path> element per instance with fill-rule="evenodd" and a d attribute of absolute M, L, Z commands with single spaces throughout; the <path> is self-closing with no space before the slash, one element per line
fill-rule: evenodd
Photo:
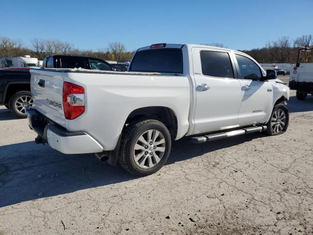
<path fill-rule="evenodd" d="M 276 127 L 275 124 L 274 124 L 274 128 L 273 128 L 272 118 L 275 118 L 274 114 L 278 110 L 284 111 L 285 117 L 286 117 L 285 119 L 279 118 L 279 122 L 285 121 L 285 125 L 282 128 L 282 130 L 280 130 L 280 129 L 274 130 L 275 127 Z M 274 106 L 273 111 L 272 111 L 272 113 L 270 115 L 270 118 L 268 120 L 268 123 L 266 125 L 267 125 L 267 133 L 268 133 L 269 136 L 280 135 L 280 134 L 283 134 L 283 133 L 285 133 L 287 131 L 287 128 L 288 128 L 288 125 L 289 125 L 289 112 L 288 112 L 288 109 L 287 109 L 285 104 L 279 103 L 279 104 L 276 104 Z"/>

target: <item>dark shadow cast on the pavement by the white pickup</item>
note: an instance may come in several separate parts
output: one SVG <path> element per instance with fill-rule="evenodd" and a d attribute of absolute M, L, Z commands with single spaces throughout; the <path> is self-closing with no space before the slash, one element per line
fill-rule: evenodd
<path fill-rule="evenodd" d="M 174 141 L 167 164 L 265 137 L 260 133 L 203 144 Z M 0 207 L 136 179 L 93 154 L 65 155 L 33 141 L 0 146 Z"/>

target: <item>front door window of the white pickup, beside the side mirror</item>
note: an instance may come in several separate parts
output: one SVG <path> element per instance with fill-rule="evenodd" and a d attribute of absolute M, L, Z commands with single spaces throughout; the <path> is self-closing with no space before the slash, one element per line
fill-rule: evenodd
<path fill-rule="evenodd" d="M 255 64 L 249 58 L 236 55 L 236 59 L 238 61 L 238 65 L 240 68 L 241 79 L 249 79 L 249 80 L 260 80 L 262 77 L 259 66 Z"/>

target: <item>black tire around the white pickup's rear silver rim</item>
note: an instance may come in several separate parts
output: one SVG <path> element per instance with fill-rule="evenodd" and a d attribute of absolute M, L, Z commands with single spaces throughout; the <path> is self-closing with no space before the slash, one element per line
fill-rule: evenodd
<path fill-rule="evenodd" d="M 157 130 L 162 134 L 162 138 L 165 141 L 165 150 L 163 156 L 160 158 L 159 162 L 156 163 L 156 165 L 151 168 L 141 168 L 134 160 L 134 145 L 137 143 L 138 138 L 148 130 Z M 147 150 L 142 151 L 145 152 Z M 171 135 L 166 126 L 158 120 L 142 120 L 129 124 L 123 131 L 118 161 L 125 170 L 132 173 L 133 175 L 147 176 L 158 171 L 166 163 L 170 151 Z M 144 158 L 146 155 L 148 154 L 144 153 L 142 158 Z"/>

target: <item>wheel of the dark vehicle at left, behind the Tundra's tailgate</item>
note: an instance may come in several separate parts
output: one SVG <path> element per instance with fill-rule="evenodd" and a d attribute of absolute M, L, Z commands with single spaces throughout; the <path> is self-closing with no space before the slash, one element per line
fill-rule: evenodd
<path fill-rule="evenodd" d="M 26 118 L 26 109 L 33 106 L 33 98 L 28 91 L 17 92 L 9 100 L 9 109 L 17 118 Z"/>

